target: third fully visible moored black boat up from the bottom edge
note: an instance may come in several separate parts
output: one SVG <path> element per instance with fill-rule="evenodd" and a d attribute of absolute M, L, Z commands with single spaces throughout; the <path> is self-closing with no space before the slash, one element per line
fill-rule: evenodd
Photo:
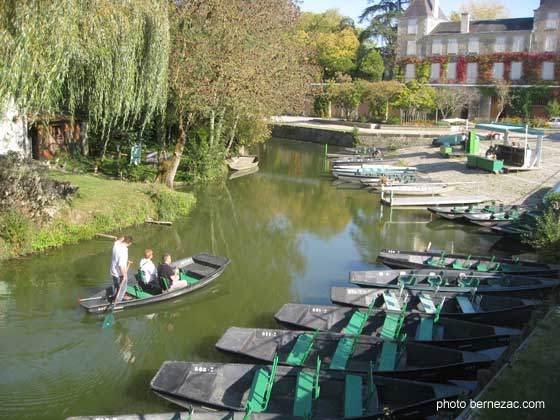
<path fill-rule="evenodd" d="M 384 340 L 431 344 L 464 351 L 507 346 L 519 329 L 498 327 L 435 315 L 385 311 L 370 306 L 366 310 L 335 305 L 286 303 L 274 315 L 280 324 L 297 330 L 319 330 L 349 336 L 365 335 Z"/>

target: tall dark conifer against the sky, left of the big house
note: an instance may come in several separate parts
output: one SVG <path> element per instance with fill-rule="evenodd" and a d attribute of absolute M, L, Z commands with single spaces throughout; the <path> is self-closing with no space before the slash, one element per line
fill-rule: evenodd
<path fill-rule="evenodd" d="M 368 21 L 368 26 L 360 34 L 361 40 L 371 39 L 380 46 L 385 60 L 385 68 L 392 75 L 397 45 L 398 18 L 404 12 L 408 0 L 368 0 L 360 16 L 360 22 Z"/>

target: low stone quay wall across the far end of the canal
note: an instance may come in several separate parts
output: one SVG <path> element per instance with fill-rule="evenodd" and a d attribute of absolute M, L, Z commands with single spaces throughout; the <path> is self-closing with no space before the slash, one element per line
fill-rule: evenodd
<path fill-rule="evenodd" d="M 332 146 L 352 147 L 354 145 L 351 132 L 280 124 L 273 124 L 271 128 L 273 137 L 328 144 Z M 364 145 L 375 146 L 379 149 L 401 149 L 405 147 L 429 145 L 432 143 L 435 136 L 433 134 L 423 133 L 387 134 L 379 132 L 360 133 L 359 137 L 360 143 Z"/>

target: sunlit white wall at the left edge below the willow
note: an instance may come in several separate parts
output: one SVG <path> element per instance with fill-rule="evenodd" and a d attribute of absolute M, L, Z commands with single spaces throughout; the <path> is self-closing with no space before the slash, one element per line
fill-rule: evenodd
<path fill-rule="evenodd" d="M 26 159 L 31 158 L 31 140 L 27 135 L 27 121 L 13 100 L 0 105 L 0 155 L 14 151 Z"/>

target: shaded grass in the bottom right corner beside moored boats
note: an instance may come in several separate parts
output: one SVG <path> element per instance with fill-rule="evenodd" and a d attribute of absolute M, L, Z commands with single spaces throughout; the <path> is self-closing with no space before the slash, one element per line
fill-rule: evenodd
<path fill-rule="evenodd" d="M 538 324 L 530 343 L 482 396 L 482 401 L 544 401 L 545 408 L 484 408 L 477 420 L 553 419 L 560 413 L 560 313 Z"/>

